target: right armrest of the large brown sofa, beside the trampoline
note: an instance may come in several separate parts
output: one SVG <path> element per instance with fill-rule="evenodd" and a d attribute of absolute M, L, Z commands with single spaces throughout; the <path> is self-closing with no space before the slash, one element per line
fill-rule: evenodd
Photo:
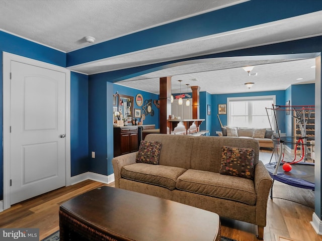
<path fill-rule="evenodd" d="M 273 181 L 262 161 L 255 166 L 254 184 L 257 195 L 256 222 L 257 225 L 266 226 L 267 200 Z"/>

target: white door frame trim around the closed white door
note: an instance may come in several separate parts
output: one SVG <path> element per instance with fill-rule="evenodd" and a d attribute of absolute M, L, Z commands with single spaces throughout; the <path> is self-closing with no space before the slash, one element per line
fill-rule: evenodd
<path fill-rule="evenodd" d="M 4 207 L 3 210 L 10 208 L 10 71 L 11 71 L 11 61 L 17 61 L 20 63 L 25 63 L 29 65 L 34 65 L 41 68 L 51 69 L 59 72 L 64 72 L 66 74 L 66 86 L 65 86 L 65 129 L 66 129 L 66 142 L 65 142 L 65 175 L 66 182 L 65 185 L 70 185 L 70 70 L 56 66 L 53 64 L 41 62 L 38 60 L 22 57 L 15 54 L 10 54 L 3 52 L 3 156 L 4 156 Z M 1 209 L 1 207 L 0 207 Z"/>

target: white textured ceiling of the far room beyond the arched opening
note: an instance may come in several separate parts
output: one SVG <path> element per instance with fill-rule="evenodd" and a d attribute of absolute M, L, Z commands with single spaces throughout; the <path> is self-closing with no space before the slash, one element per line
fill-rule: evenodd
<path fill-rule="evenodd" d="M 207 91 L 210 94 L 240 93 L 285 90 L 291 84 L 314 83 L 315 59 L 268 59 L 268 60 L 238 60 L 232 61 L 227 58 L 214 62 L 189 64 L 187 66 L 174 67 L 167 70 L 160 70 L 150 74 L 138 76 L 132 79 L 118 82 L 118 84 L 141 89 L 144 91 L 159 93 L 159 78 L 172 76 L 172 92 L 187 92 L 187 85 L 200 86 L 200 91 Z M 254 65 L 251 73 L 257 76 L 248 76 L 242 68 L 247 65 Z M 227 66 L 229 66 L 227 68 Z M 212 70 L 217 69 L 217 70 Z M 298 78 L 303 78 L 297 80 Z M 254 86 L 248 89 L 244 83 L 254 82 Z M 189 91 L 191 92 L 191 90 Z"/>

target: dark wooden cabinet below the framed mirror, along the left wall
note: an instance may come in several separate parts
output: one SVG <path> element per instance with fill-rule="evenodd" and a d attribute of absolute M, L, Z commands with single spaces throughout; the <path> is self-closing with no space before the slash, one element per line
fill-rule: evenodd
<path fill-rule="evenodd" d="M 114 127 L 114 157 L 138 150 L 138 127 Z"/>

